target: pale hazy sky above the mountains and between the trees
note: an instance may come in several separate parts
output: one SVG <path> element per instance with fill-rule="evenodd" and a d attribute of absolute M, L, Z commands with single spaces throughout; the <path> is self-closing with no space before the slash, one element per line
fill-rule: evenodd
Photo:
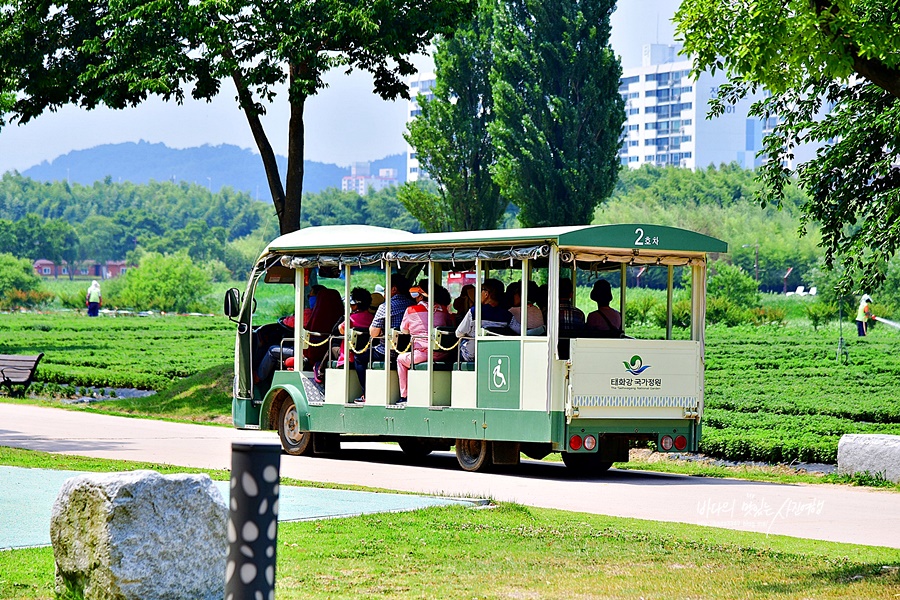
<path fill-rule="evenodd" d="M 678 4 L 677 0 L 619 0 L 612 17 L 612 46 L 621 55 L 623 67 L 640 65 L 643 44 L 672 42 L 671 18 Z M 422 57 L 417 65 L 430 69 L 430 60 Z M 406 151 L 405 100 L 381 100 L 372 93 L 371 77 L 365 73 L 332 72 L 327 81 L 329 87 L 306 104 L 307 159 L 349 165 Z M 24 171 L 72 150 L 138 140 L 172 148 L 234 144 L 255 152 L 247 122 L 234 100 L 234 88 L 226 83 L 228 87 L 212 103 L 178 106 L 153 99 L 121 111 L 67 106 L 28 125 L 7 126 L 0 130 L 0 173 Z M 276 101 L 264 120 L 272 146 L 281 155 L 287 152 L 287 119 L 286 103 Z"/>

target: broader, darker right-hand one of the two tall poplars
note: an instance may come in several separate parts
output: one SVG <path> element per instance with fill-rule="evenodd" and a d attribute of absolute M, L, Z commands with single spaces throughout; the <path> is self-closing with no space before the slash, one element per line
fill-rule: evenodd
<path fill-rule="evenodd" d="M 625 102 L 615 0 L 508 0 L 495 21 L 494 176 L 528 227 L 590 223 L 612 193 Z"/>

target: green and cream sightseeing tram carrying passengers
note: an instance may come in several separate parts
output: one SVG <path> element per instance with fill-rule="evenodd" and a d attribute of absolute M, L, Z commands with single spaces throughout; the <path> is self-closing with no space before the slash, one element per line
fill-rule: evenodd
<path fill-rule="evenodd" d="M 720 240 L 650 224 L 441 234 L 348 225 L 281 236 L 263 252 L 243 295 L 232 289 L 225 298 L 225 312 L 238 326 L 234 425 L 277 430 L 284 450 L 296 455 L 338 451 L 342 439 L 396 441 L 420 456 L 455 446 L 468 471 L 517 464 L 520 452 L 535 459 L 560 452 L 568 467 L 599 472 L 627 461 L 636 445 L 695 451 L 703 415 L 707 256 L 725 251 Z M 653 271 L 668 289 L 666 326 L 645 339 L 632 330 L 649 329 L 627 319 L 634 267 Z M 673 330 L 676 274 L 690 281 L 687 330 Z M 319 331 L 321 323 L 308 318 L 254 322 L 256 295 L 265 286 L 287 292 L 295 315 L 308 311 L 311 289 L 327 288 L 340 303 L 332 317 L 352 325 L 351 305 L 341 297 L 351 299 L 355 281 L 373 277 L 385 290 L 382 327 Z M 594 308 L 572 296 L 573 284 L 581 282 L 583 290 L 600 279 L 611 282 L 607 290 L 617 288 L 612 308 L 621 324 L 605 319 L 609 327 L 596 329 L 573 322 L 573 308 L 582 314 L 576 321 Z M 417 292 L 436 301 L 418 305 L 419 330 L 406 335 L 388 307 L 415 305 L 404 288 L 416 281 Z M 475 287 L 468 297 L 481 300 L 465 310 L 469 333 L 438 314 L 447 311 L 438 304 L 447 296 L 441 288 L 466 281 Z M 498 281 L 519 282 L 514 302 L 525 325 L 496 322 L 489 305 L 502 302 L 492 297 Z M 535 305 L 540 326 L 530 322 Z M 336 359 L 341 345 L 347 360 Z M 302 358 L 299 351 L 293 356 L 294 348 L 303 349 Z M 416 357 L 399 374 L 406 382 L 402 396 L 397 359 L 410 351 Z M 260 373 L 267 358 L 274 362 L 269 376 Z"/>

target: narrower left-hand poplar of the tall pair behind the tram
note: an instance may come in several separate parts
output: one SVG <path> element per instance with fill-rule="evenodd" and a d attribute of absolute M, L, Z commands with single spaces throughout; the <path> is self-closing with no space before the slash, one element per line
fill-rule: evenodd
<path fill-rule="evenodd" d="M 419 96 L 422 114 L 404 135 L 421 168 L 438 184 L 437 193 L 406 184 L 398 194 L 428 231 L 472 231 L 497 227 L 508 202 L 490 167 L 494 149 L 488 124 L 494 99 L 493 1 L 480 0 L 477 14 L 452 38 L 438 41 L 433 98 Z"/>

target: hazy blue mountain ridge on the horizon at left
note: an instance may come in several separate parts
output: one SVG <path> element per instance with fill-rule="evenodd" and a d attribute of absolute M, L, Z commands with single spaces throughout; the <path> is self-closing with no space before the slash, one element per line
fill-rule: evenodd
<path fill-rule="evenodd" d="M 406 156 L 394 154 L 371 161 L 371 170 L 397 169 L 400 182 L 406 180 Z M 278 169 L 284 176 L 287 158 L 278 157 Z M 22 172 L 37 181 L 61 181 L 91 185 L 111 177 L 113 181 L 187 181 L 208 185 L 213 191 L 224 186 L 247 192 L 260 199 L 269 198 L 262 160 L 250 150 L 231 145 L 200 146 L 178 150 L 165 144 L 126 142 L 106 144 L 87 150 L 75 150 L 53 162 L 44 161 Z M 341 187 L 341 178 L 350 175 L 350 167 L 304 161 L 303 191 L 321 192 Z"/>

